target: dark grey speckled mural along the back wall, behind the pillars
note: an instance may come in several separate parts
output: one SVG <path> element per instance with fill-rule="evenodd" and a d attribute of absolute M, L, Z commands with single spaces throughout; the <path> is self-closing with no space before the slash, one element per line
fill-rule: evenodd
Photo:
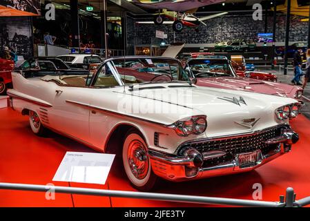
<path fill-rule="evenodd" d="M 206 22 L 206 26 L 195 28 L 184 27 L 180 33 L 173 33 L 171 25 L 145 25 L 137 24 L 135 21 L 143 19 L 128 19 L 127 28 L 133 34 L 127 35 L 128 42 L 131 44 L 151 44 L 155 39 L 155 30 L 162 30 L 168 34 L 167 43 L 175 41 L 184 41 L 186 44 L 215 44 L 220 41 L 241 38 L 245 40 L 255 40 L 256 35 L 264 32 L 264 19 L 254 21 L 251 16 L 233 16 L 227 15 L 217 17 Z M 273 18 L 268 18 L 267 32 L 272 32 Z M 278 15 L 276 41 L 284 41 L 285 38 L 285 15 Z M 300 17 L 291 18 L 290 41 L 307 41 L 308 23 L 300 22 Z M 135 42 L 133 40 L 135 39 Z"/>

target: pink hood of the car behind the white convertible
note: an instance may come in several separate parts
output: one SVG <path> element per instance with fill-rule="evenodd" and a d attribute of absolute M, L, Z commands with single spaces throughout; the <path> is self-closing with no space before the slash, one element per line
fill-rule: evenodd
<path fill-rule="evenodd" d="M 286 97 L 293 90 L 288 84 L 262 81 L 249 77 L 206 77 L 197 78 L 198 86 L 209 86 L 215 88 L 226 88 L 230 90 L 241 90 L 267 95 L 278 95 Z"/>

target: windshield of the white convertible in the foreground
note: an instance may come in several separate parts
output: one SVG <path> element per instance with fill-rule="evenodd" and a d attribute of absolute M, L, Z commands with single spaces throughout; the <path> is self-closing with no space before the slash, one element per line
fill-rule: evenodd
<path fill-rule="evenodd" d="M 141 84 L 148 82 L 188 81 L 188 75 L 179 61 L 161 58 L 119 58 L 101 66 L 93 86 L 119 86 L 122 84 Z"/>

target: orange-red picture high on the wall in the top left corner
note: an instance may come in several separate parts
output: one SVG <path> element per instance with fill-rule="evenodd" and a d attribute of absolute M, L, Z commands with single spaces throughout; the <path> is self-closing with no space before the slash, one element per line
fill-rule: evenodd
<path fill-rule="evenodd" d="M 0 0 L 0 16 L 41 15 L 40 0 Z"/>

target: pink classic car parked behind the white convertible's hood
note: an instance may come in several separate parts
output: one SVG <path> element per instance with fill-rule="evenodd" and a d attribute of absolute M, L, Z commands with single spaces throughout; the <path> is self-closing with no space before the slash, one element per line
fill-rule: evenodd
<path fill-rule="evenodd" d="M 231 61 L 224 57 L 188 59 L 186 72 L 195 79 L 197 86 L 244 90 L 281 97 L 291 97 L 302 102 L 302 88 L 289 84 L 262 81 L 249 77 L 238 77 L 231 66 Z"/>

